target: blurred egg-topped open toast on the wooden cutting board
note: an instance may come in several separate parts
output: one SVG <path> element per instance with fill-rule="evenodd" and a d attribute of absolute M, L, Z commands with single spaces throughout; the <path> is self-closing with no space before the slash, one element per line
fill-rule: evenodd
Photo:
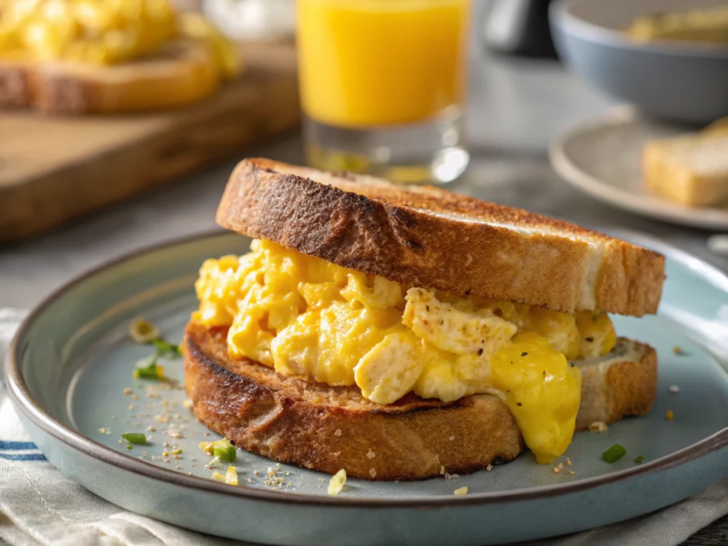
<path fill-rule="evenodd" d="M 175 108 L 212 95 L 239 71 L 214 25 L 169 0 L 0 0 L 0 108 Z"/>

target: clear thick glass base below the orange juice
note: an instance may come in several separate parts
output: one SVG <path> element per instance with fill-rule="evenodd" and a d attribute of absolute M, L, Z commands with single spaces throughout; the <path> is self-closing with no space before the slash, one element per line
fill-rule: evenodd
<path fill-rule="evenodd" d="M 430 122 L 345 129 L 306 117 L 306 161 L 321 170 L 349 170 L 400 183 L 447 183 L 470 154 L 462 143 L 462 111 Z"/>

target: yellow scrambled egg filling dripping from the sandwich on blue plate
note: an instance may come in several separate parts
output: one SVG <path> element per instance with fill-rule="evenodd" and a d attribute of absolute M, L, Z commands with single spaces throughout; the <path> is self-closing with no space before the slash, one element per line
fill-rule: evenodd
<path fill-rule="evenodd" d="M 232 358 L 356 384 L 380 404 L 408 392 L 444 402 L 496 395 L 542 463 L 574 434 L 581 375 L 569 360 L 606 355 L 616 342 L 606 314 L 404 287 L 264 240 L 251 250 L 205 261 L 195 284 L 192 318 L 229 327 Z"/>

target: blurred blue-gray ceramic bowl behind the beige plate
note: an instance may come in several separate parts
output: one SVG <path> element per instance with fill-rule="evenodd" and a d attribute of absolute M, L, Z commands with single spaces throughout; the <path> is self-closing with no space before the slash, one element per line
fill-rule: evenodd
<path fill-rule="evenodd" d="M 622 29 L 651 12 L 718 4 L 725 0 L 560 0 L 550 20 L 561 58 L 599 90 L 652 116 L 705 124 L 728 116 L 728 46 L 640 44 Z"/>

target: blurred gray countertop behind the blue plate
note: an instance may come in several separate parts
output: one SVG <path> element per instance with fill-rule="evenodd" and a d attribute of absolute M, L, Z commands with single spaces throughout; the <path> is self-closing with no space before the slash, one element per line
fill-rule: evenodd
<path fill-rule="evenodd" d="M 653 234 L 728 268 L 711 256 L 706 232 L 638 218 L 578 194 L 551 170 L 547 144 L 569 124 L 602 116 L 614 103 L 601 98 L 553 61 L 489 58 L 478 51 L 472 72 L 468 134 L 474 159 L 454 191 L 517 205 L 593 226 Z M 240 151 L 302 162 L 297 134 Z M 236 159 L 208 167 L 123 205 L 58 231 L 0 248 L 0 307 L 31 307 L 93 266 L 157 242 L 213 229 L 213 215 Z M 687 544 L 728 543 L 728 518 Z"/>

